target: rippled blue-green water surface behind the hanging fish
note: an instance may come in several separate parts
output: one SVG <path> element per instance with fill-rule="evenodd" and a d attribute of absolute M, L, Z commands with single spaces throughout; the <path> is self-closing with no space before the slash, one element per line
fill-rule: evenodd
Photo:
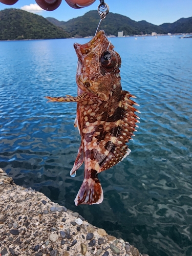
<path fill-rule="evenodd" d="M 140 124 L 132 153 L 99 175 L 104 200 L 74 204 L 83 180 L 69 172 L 80 137 L 74 42 L 55 39 L 0 42 L 0 167 L 78 211 L 151 256 L 192 255 L 192 39 L 177 36 L 111 38 L 122 58 L 123 90 L 137 96 Z"/>

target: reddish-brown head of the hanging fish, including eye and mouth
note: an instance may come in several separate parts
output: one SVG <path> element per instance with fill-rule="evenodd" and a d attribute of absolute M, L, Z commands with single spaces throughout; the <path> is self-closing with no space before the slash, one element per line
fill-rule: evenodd
<path fill-rule="evenodd" d="M 108 100 L 112 86 L 120 81 L 121 58 L 100 30 L 87 44 L 74 44 L 78 57 L 76 82 L 80 90 Z"/>

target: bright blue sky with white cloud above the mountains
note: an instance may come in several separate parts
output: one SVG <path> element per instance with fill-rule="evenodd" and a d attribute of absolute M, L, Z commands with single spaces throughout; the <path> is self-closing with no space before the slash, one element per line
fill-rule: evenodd
<path fill-rule="evenodd" d="M 173 23 L 180 18 L 192 16 L 192 0 L 105 0 L 109 5 L 110 12 L 125 15 L 136 22 L 146 20 L 155 25 Z M 40 10 L 35 0 L 19 0 L 9 6 L 0 3 L 0 10 L 17 8 L 31 11 L 43 17 L 53 17 L 67 22 L 71 18 L 82 16 L 90 10 L 97 10 L 99 0 L 94 4 L 82 9 L 73 9 L 62 0 L 61 5 L 54 11 Z"/>

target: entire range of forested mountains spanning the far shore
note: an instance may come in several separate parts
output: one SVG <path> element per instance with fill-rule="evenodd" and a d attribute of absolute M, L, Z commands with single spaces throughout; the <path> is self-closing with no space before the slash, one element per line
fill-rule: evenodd
<path fill-rule="evenodd" d="M 68 22 L 59 22 L 55 18 L 46 19 L 19 9 L 5 9 L 0 11 L 0 40 L 93 36 L 99 19 L 96 10 L 70 19 Z M 192 17 L 156 26 L 145 20 L 135 22 L 129 17 L 111 12 L 101 23 L 100 29 L 103 29 L 107 35 L 116 36 L 117 32 L 122 30 L 124 35 L 151 34 L 152 32 L 192 33 Z"/>

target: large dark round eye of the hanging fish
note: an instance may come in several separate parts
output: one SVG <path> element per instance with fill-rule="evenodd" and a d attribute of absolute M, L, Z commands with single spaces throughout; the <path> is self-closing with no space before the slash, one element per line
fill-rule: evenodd
<path fill-rule="evenodd" d="M 113 51 L 104 51 L 101 54 L 101 66 L 105 71 L 111 72 L 117 63 L 116 55 Z"/>

